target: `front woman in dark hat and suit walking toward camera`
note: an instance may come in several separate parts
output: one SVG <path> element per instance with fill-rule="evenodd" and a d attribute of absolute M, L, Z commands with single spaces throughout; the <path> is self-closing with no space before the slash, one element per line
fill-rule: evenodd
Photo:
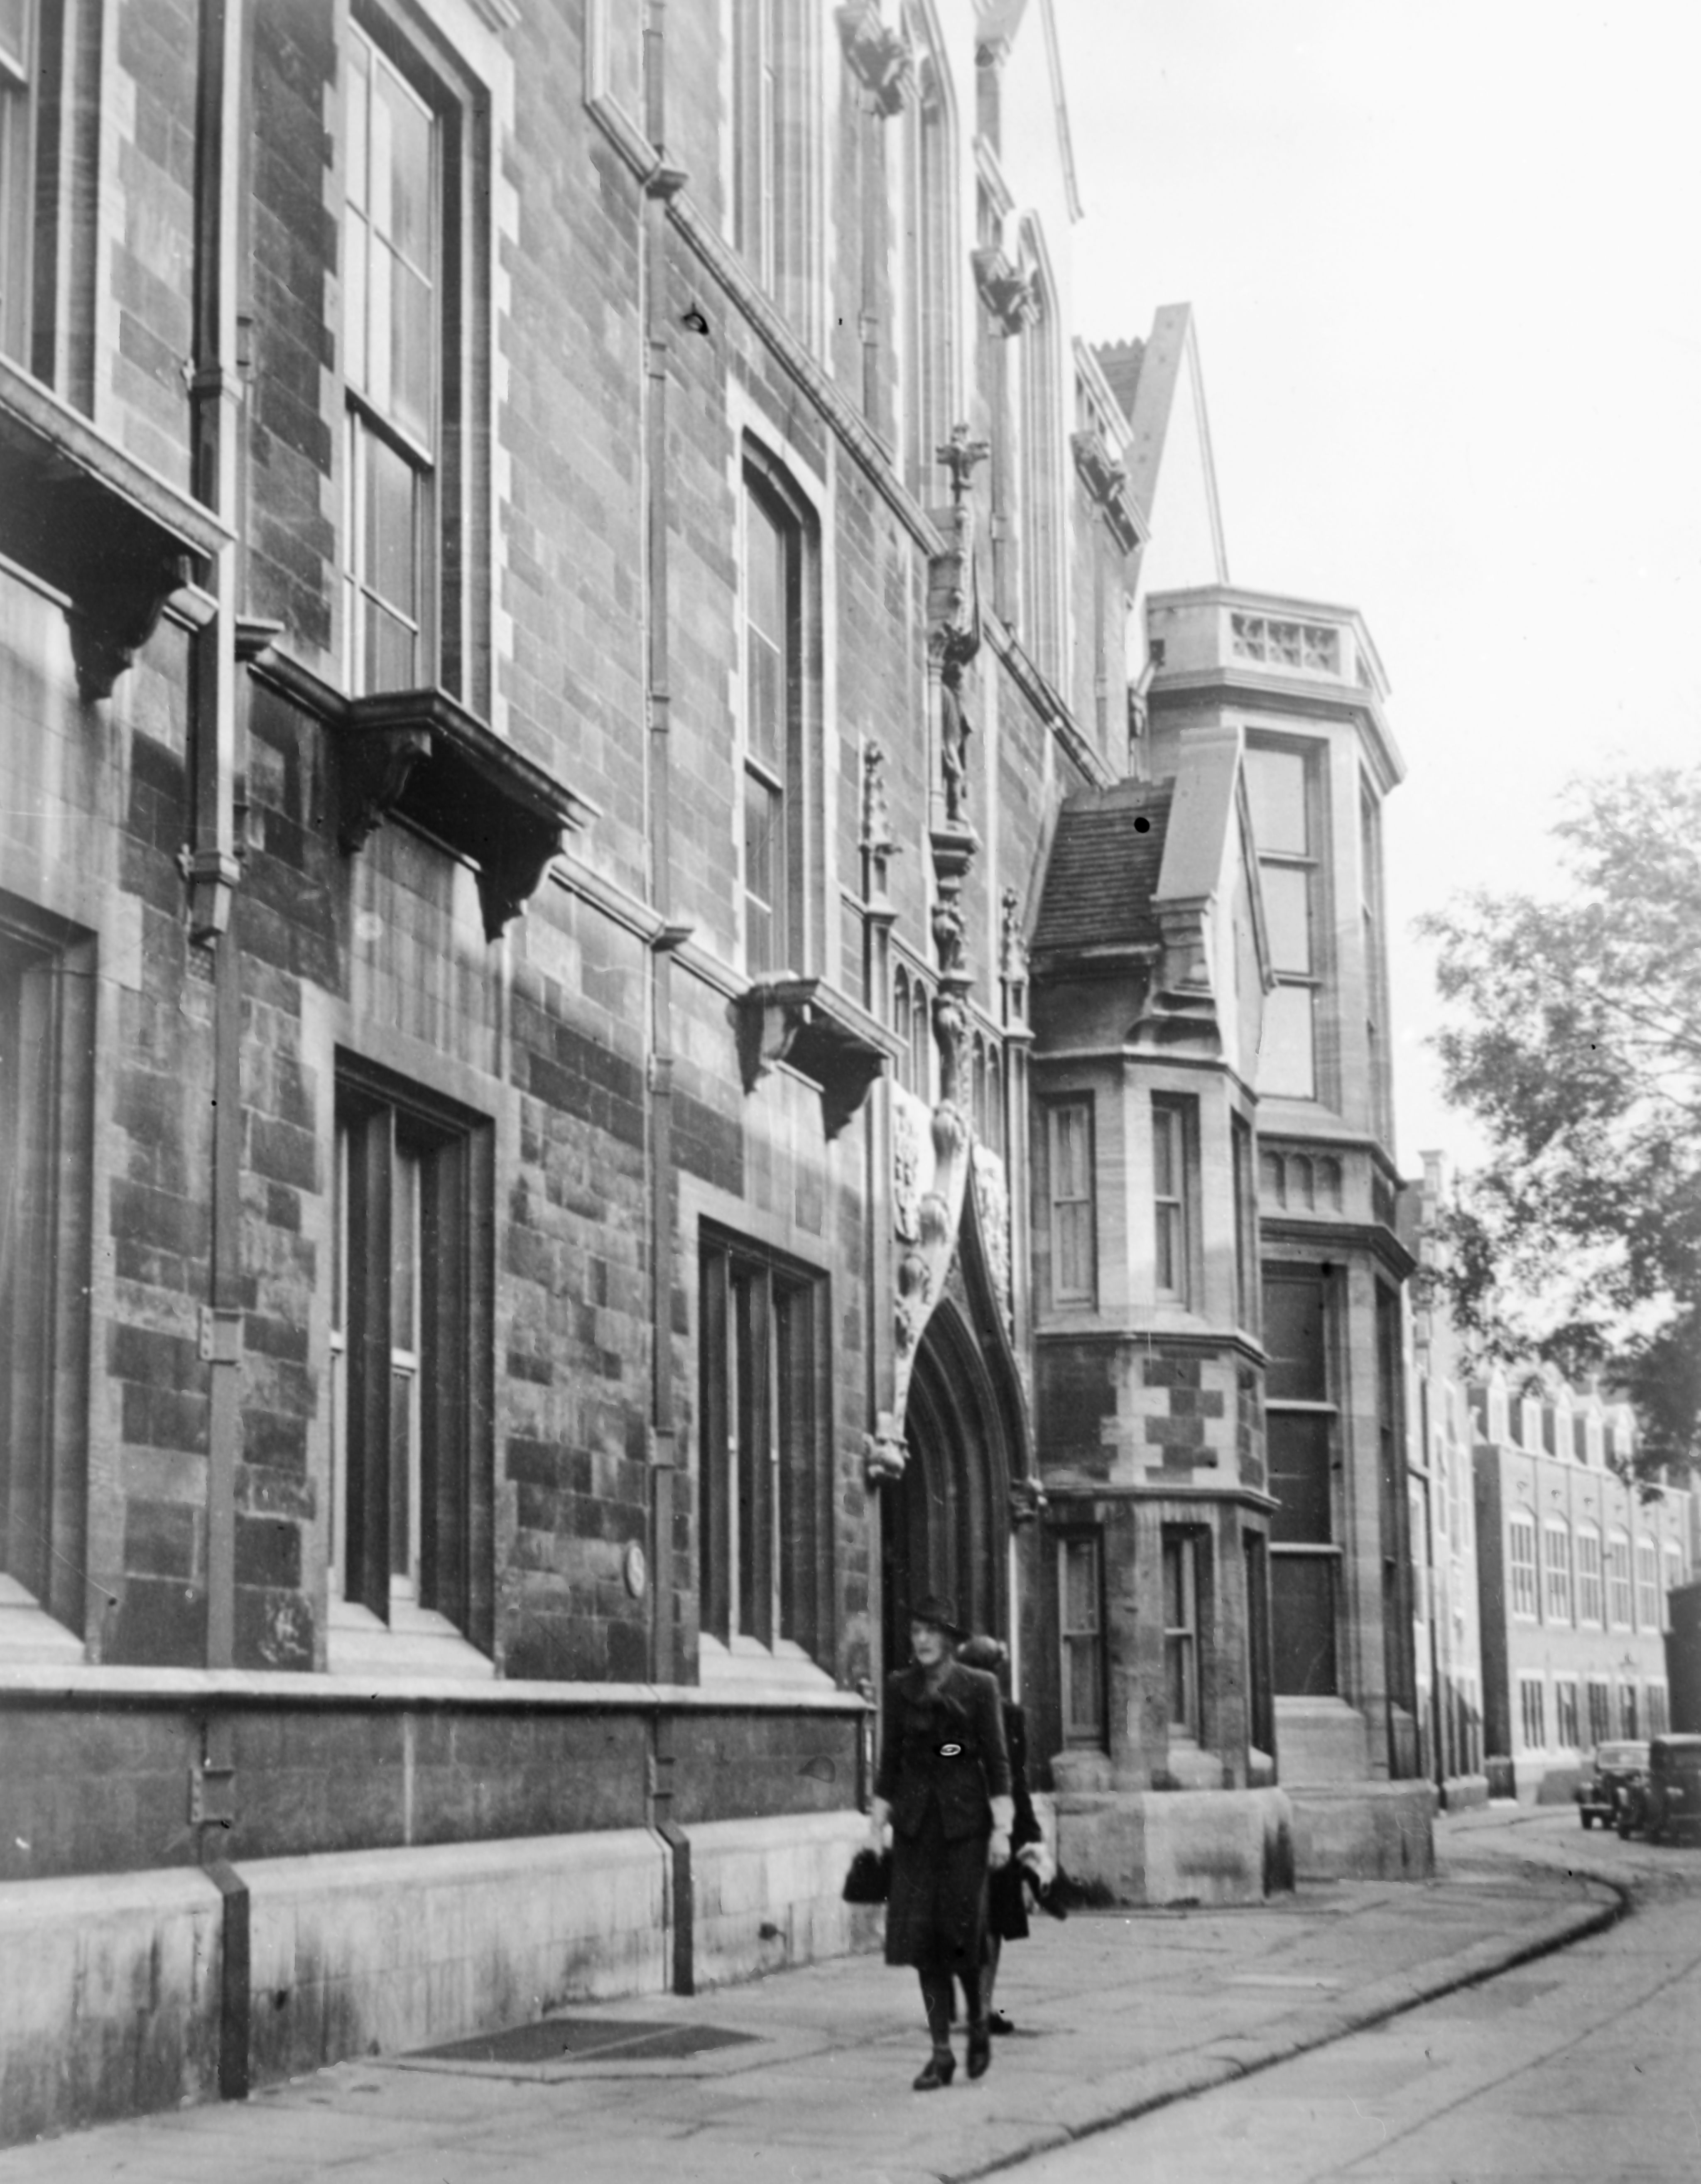
<path fill-rule="evenodd" d="M 970 2025 L 967 2073 L 991 2062 L 980 1966 L 987 1948 L 987 1872 L 1011 1856 L 1011 1769 L 998 1682 L 952 1658 L 963 1636 L 950 1601 L 930 1594 L 911 1610 L 908 1669 L 887 1677 L 873 1835 L 891 1824 L 887 1963 L 921 1979 L 932 2055 L 917 2092 L 950 2086 L 952 1979 Z"/>

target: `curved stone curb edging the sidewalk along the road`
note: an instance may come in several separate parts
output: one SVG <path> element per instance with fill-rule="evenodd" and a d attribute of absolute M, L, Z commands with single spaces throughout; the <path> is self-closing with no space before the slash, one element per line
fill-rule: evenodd
<path fill-rule="evenodd" d="M 1028 2162 L 1039 2153 L 1055 2153 L 1076 2138 L 1092 2138 L 1098 2132 L 1114 2129 L 1118 2123 L 1133 2123 L 1155 2108 L 1168 2108 L 1175 2101 L 1214 2092 L 1218 2086 L 1229 2086 L 1240 2077 L 1253 2077 L 1258 2070 L 1271 2070 L 1280 2062 L 1293 2062 L 1295 2055 L 1310 2055 L 1315 2049 L 1332 2046 L 1336 2040 L 1365 2031 L 1369 2025 L 1382 2025 L 1387 2018 L 1404 2016 L 1406 2009 L 1435 2003 L 1443 1994 L 1474 1987 L 1485 1979 L 1496 1979 L 1500 1972 L 1515 1970 L 1520 1963 L 1550 1957 L 1557 1948 L 1568 1948 L 1572 1942 L 1585 1942 L 1590 1935 L 1605 1933 L 1629 1913 L 1631 1889 L 1618 1876 L 1607 1876 L 1598 1867 L 1590 1872 L 1583 1865 L 1572 1865 L 1572 1872 L 1587 1887 L 1607 1889 L 1611 1900 L 1559 1911 L 1515 1937 L 1472 1942 L 1470 1948 L 1454 1950 L 1452 1957 L 1439 1957 L 1417 1972 L 1378 1979 L 1369 1987 L 1360 1987 L 1341 2009 L 1312 2018 L 1299 2031 L 1275 2038 L 1221 2040 L 1197 2055 L 1179 2055 L 1101 2079 L 1096 2088 L 1083 2088 L 1079 2103 L 1072 2103 L 1079 2108 L 1074 2116 L 1066 2108 L 1022 2147 L 998 2153 L 972 2169 L 941 2169 L 939 2184 L 972 2184 L 974 2177 L 1015 2169 L 1018 2162 Z"/>

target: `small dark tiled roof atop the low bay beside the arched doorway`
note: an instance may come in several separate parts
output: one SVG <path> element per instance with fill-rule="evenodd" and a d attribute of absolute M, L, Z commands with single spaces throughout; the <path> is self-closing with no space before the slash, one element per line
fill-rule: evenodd
<path fill-rule="evenodd" d="M 1033 952 L 1155 948 L 1151 898 L 1164 863 L 1175 782 L 1081 791 L 1057 815 Z"/>

